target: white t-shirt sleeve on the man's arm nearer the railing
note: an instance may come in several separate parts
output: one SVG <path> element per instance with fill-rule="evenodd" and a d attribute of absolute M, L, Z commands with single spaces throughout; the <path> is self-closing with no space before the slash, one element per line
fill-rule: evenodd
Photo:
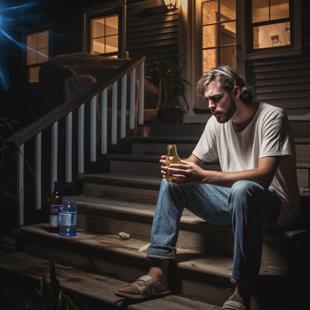
<path fill-rule="evenodd" d="M 216 129 L 215 124 L 211 117 L 206 124 L 205 130 L 196 145 L 196 148 L 193 150 L 193 154 L 205 162 L 214 162 L 219 158 L 216 145 Z"/>

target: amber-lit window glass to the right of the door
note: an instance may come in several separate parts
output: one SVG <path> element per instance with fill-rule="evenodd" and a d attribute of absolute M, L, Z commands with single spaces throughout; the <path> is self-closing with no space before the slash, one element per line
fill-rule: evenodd
<path fill-rule="evenodd" d="M 251 0 L 252 49 L 290 46 L 289 0 Z"/>

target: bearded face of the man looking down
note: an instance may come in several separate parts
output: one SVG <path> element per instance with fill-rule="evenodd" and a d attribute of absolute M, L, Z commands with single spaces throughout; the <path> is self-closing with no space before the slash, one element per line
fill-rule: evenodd
<path fill-rule="evenodd" d="M 234 98 L 217 83 L 208 84 L 204 95 L 212 114 L 219 123 L 228 122 L 236 113 L 237 105 Z"/>

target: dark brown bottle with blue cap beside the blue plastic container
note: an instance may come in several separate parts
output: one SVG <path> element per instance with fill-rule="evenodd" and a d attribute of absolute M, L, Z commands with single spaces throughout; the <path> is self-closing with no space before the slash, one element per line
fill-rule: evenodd
<path fill-rule="evenodd" d="M 54 192 L 50 197 L 50 223 L 48 226 L 50 232 L 59 233 L 62 203 L 63 198 L 59 192 L 59 181 L 55 181 Z"/>

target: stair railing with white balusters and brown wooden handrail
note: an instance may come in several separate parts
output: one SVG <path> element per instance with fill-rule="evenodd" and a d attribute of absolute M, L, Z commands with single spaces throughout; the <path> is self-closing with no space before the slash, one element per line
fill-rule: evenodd
<path fill-rule="evenodd" d="M 144 115 L 144 60 L 145 56 L 140 56 L 135 60 L 123 65 L 123 72 L 126 68 L 131 70 L 130 80 L 130 122 L 129 128 L 135 128 L 135 82 L 136 65 L 139 65 L 139 124 L 143 124 Z M 13 142 L 19 148 L 17 153 L 17 187 L 18 187 L 18 225 L 24 224 L 24 143 L 35 136 L 35 209 L 41 210 L 41 154 L 42 154 L 42 130 L 52 126 L 51 135 L 51 192 L 53 192 L 54 182 L 57 181 L 57 152 L 58 152 L 58 120 L 66 116 L 66 182 L 72 182 L 72 111 L 78 108 L 78 173 L 84 173 L 84 109 L 83 99 L 91 97 L 91 162 L 96 161 L 96 89 L 102 89 L 102 110 L 101 110 L 101 154 L 107 154 L 108 149 L 108 90 L 112 84 L 112 144 L 117 144 L 117 80 L 122 78 L 121 96 L 121 138 L 126 138 L 126 97 L 127 97 L 127 73 L 122 73 L 122 67 L 118 68 L 114 75 L 104 82 L 96 82 L 88 87 L 82 95 L 70 98 L 61 106 L 57 107 L 38 121 L 25 127 L 7 142 Z M 133 67 L 131 69 L 131 67 Z M 121 72 L 120 72 L 121 71 Z M 109 83 L 109 81 L 113 81 Z M 96 87 L 95 87 L 96 86 Z M 104 86 L 104 87 L 100 87 Z M 89 90 L 89 94 L 87 93 Z M 86 95 L 85 95 L 86 94 Z M 84 95 L 84 96 L 83 96 Z M 76 101 L 76 102 L 74 102 Z M 85 100 L 86 101 L 86 100 Z M 69 113 L 65 113 L 69 112 Z M 47 121 L 45 121 L 47 119 Z M 55 119 L 55 122 L 52 120 Z M 40 130 L 41 129 L 41 130 Z M 26 137 L 25 137 L 26 135 Z"/>

